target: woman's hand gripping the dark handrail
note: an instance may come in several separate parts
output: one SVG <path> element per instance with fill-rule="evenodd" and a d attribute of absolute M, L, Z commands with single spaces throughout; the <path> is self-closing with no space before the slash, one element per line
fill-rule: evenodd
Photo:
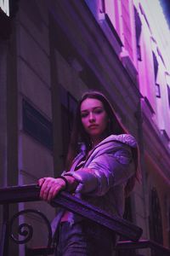
<path fill-rule="evenodd" d="M 44 201 L 51 201 L 59 191 L 65 189 L 65 181 L 62 178 L 42 177 L 38 180 L 41 187 L 40 197 Z"/>

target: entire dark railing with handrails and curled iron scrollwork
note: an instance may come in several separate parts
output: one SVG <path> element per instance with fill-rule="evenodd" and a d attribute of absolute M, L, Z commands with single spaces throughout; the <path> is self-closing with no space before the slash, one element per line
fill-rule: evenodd
<path fill-rule="evenodd" d="M 31 240 L 33 234 L 33 227 L 30 224 L 19 224 L 18 232 L 20 236 L 24 236 L 22 241 L 14 238 L 12 234 L 12 226 L 14 219 L 19 218 L 21 214 L 26 212 L 32 212 L 41 216 L 43 221 L 48 226 L 48 242 L 46 247 L 42 248 L 29 248 L 26 247 L 26 256 L 30 255 L 51 255 L 54 253 L 54 245 L 52 243 L 52 230 L 48 222 L 48 218 L 37 210 L 26 209 L 20 212 L 16 212 L 12 218 L 9 218 L 9 205 L 14 203 L 26 202 L 26 201 L 40 201 L 39 187 L 36 184 L 16 186 L 0 189 L 0 205 L 3 206 L 3 225 L 1 227 L 0 237 L 0 256 L 8 256 L 8 241 L 12 239 L 17 244 L 26 244 Z M 162 247 L 153 241 L 139 241 L 142 234 L 142 229 L 138 226 L 129 223 L 127 220 L 111 216 L 108 213 L 101 211 L 97 207 L 89 205 L 87 202 L 82 201 L 69 193 L 61 192 L 59 195 L 51 201 L 51 207 L 65 207 L 65 209 L 75 212 L 84 218 L 93 220 L 94 222 L 104 225 L 109 230 L 116 232 L 117 234 L 126 237 L 129 241 L 120 241 L 116 246 L 116 252 L 122 250 L 136 249 L 150 247 L 152 250 L 162 254 L 170 255 L 170 249 Z M 28 230 L 24 231 L 24 228 Z M 137 256 L 134 253 L 131 256 Z"/>

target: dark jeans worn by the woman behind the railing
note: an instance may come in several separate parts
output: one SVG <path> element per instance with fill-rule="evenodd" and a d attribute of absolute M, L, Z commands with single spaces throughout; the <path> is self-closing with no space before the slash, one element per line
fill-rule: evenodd
<path fill-rule="evenodd" d="M 83 220 L 70 227 L 68 222 L 59 225 L 55 256 L 111 256 L 115 245 L 111 230 Z"/>

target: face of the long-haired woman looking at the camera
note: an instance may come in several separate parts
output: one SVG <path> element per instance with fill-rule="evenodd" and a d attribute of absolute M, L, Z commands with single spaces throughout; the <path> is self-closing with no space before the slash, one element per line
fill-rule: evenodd
<path fill-rule="evenodd" d="M 92 141 L 99 141 L 108 124 L 107 113 L 102 102 L 97 99 L 86 99 L 81 104 L 82 125 Z"/>

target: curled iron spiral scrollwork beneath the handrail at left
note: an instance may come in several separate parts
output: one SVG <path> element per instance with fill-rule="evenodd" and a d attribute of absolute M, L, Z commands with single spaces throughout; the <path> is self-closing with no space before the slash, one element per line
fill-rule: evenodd
<path fill-rule="evenodd" d="M 48 218 L 40 211 L 37 210 L 33 210 L 33 209 L 26 209 L 20 212 L 17 212 L 14 214 L 14 216 L 11 218 L 10 222 L 9 222 L 9 236 L 11 237 L 11 239 L 17 243 L 17 244 L 24 244 L 28 241 L 31 240 L 32 236 L 33 236 L 33 228 L 31 226 L 31 224 L 20 224 L 19 228 L 18 228 L 18 235 L 23 236 L 23 239 L 19 239 L 16 238 L 13 234 L 13 225 L 14 225 L 14 221 L 19 218 L 21 215 L 23 214 L 27 214 L 27 213 L 34 213 L 39 215 L 43 221 L 45 222 L 45 224 L 47 224 L 48 227 L 48 245 L 47 247 L 49 248 L 52 244 L 52 230 L 51 230 L 51 225 L 49 224 Z"/>

